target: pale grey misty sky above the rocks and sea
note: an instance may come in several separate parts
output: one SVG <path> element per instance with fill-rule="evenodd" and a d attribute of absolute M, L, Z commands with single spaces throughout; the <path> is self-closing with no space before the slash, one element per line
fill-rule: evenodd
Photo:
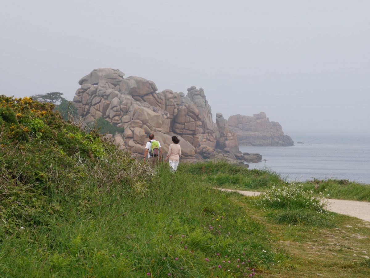
<path fill-rule="evenodd" d="M 213 117 L 265 111 L 285 134 L 370 134 L 370 1 L 4 1 L 7 96 L 72 100 L 94 68 L 202 87 Z M 293 138 L 294 139 L 294 138 Z"/>

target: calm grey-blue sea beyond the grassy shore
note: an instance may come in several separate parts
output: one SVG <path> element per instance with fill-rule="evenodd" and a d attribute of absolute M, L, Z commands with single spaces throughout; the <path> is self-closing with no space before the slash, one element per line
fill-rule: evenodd
<path fill-rule="evenodd" d="M 267 167 L 287 180 L 337 178 L 370 184 L 370 138 L 291 137 L 292 147 L 239 146 L 239 150 L 266 159 L 248 163 L 250 169 Z"/>

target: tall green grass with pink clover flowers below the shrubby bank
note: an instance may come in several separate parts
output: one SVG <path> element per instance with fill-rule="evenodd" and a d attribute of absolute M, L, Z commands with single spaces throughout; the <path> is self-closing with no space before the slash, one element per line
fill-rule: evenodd
<path fill-rule="evenodd" d="M 225 194 L 192 179 L 185 167 L 157 171 L 148 187 L 128 194 L 118 180 L 107 186 L 96 178 L 110 175 L 108 169 L 91 169 L 85 200 L 71 202 L 48 226 L 1 234 L 1 275 L 241 276 L 280 258 L 265 228 Z"/>

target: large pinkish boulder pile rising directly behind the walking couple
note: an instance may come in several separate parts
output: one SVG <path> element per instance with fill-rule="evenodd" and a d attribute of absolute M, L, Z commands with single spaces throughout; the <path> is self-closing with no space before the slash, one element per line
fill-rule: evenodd
<path fill-rule="evenodd" d="M 186 160 L 244 160 L 236 134 L 222 114 L 217 113 L 216 124 L 212 121 L 202 88 L 192 86 L 186 96 L 171 90 L 157 92 L 153 81 L 124 75 L 120 70 L 100 68 L 81 78 L 73 101 L 87 124 L 103 117 L 123 127 L 124 133 L 112 138 L 121 148 L 140 155 L 149 133 L 154 133 L 165 153 L 172 143 L 171 136 L 178 136 Z"/>

